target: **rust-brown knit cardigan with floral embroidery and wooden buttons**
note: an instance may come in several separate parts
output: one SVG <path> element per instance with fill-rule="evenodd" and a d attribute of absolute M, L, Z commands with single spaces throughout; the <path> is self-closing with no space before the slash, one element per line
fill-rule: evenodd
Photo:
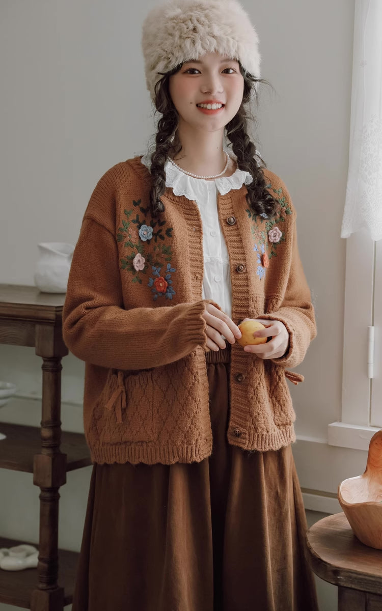
<path fill-rule="evenodd" d="M 245 186 L 218 196 L 233 321 L 280 320 L 290 336 L 279 359 L 232 346 L 227 439 L 261 451 L 295 441 L 285 377 L 303 378 L 286 368 L 301 363 L 315 336 L 295 209 L 280 178 L 265 177 L 277 200 L 272 220 L 254 217 Z M 211 453 L 202 221 L 196 203 L 169 188 L 166 211 L 152 219 L 149 190 L 139 157 L 108 170 L 73 255 L 64 340 L 86 361 L 84 430 L 96 463 L 191 463 Z"/>

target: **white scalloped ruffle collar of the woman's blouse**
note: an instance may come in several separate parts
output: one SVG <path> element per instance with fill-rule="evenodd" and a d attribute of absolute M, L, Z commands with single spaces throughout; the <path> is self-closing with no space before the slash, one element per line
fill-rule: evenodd
<path fill-rule="evenodd" d="M 149 155 L 143 156 L 141 162 L 150 170 Z M 231 189 L 240 189 L 243 185 L 249 185 L 252 182 L 251 174 L 238 168 L 232 176 L 215 178 L 215 180 L 202 180 L 201 178 L 188 176 L 173 166 L 170 161 L 166 161 L 164 169 L 166 170 L 166 187 L 171 187 L 174 195 L 185 196 L 191 200 L 199 200 L 201 197 L 205 197 L 210 185 L 214 183 L 219 193 L 226 195 Z"/>

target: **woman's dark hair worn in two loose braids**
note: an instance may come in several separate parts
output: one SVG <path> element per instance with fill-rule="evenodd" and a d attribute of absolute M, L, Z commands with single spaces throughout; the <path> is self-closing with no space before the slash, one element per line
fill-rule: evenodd
<path fill-rule="evenodd" d="M 162 116 L 158 121 L 158 131 L 155 137 L 155 149 L 151 155 L 150 173 L 152 175 L 152 188 L 150 191 L 150 211 L 153 217 L 164 211 L 163 202 L 160 197 L 166 190 L 166 164 L 170 150 L 178 153 L 182 145 L 177 139 L 178 112 L 172 103 L 169 93 L 170 76 L 177 73 L 182 65 L 167 72 L 155 86 L 155 108 Z M 244 78 L 244 93 L 241 106 L 233 119 L 227 124 L 227 137 L 232 144 L 233 153 L 237 156 L 237 164 L 241 170 L 246 170 L 252 176 L 252 183 L 247 185 L 247 202 L 255 214 L 266 214 L 271 218 L 276 209 L 276 202 L 267 191 L 266 181 L 263 174 L 265 163 L 256 153 L 256 147 L 248 136 L 248 119 L 245 105 L 251 99 L 255 82 L 266 82 L 255 79 L 248 75 L 240 65 L 241 74 Z M 252 118 L 252 117 L 251 117 Z"/>

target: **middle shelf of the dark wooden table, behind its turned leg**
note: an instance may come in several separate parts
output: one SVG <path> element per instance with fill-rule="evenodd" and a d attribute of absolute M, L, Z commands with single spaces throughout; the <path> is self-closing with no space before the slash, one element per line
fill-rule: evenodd
<path fill-rule="evenodd" d="M 0 468 L 33 473 L 33 457 L 41 453 L 40 428 L 0 422 L 0 433 L 7 436 L 0 441 Z M 67 471 L 92 464 L 81 433 L 62 431 L 60 450 L 67 455 Z"/>

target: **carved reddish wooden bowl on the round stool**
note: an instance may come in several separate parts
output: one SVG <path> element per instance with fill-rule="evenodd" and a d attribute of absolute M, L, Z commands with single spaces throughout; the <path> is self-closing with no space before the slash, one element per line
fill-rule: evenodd
<path fill-rule="evenodd" d="M 370 440 L 364 474 L 343 480 L 338 500 L 354 535 L 365 545 L 382 549 L 382 430 Z"/>

